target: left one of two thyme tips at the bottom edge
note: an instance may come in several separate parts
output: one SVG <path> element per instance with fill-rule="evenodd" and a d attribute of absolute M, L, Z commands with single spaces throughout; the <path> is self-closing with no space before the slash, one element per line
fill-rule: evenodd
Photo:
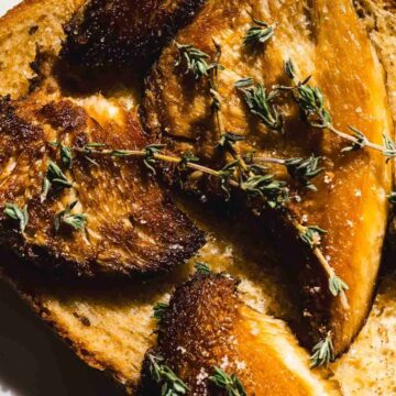
<path fill-rule="evenodd" d="M 161 396 L 186 395 L 188 386 L 164 363 L 161 356 L 148 354 L 150 373 L 161 386 Z"/>

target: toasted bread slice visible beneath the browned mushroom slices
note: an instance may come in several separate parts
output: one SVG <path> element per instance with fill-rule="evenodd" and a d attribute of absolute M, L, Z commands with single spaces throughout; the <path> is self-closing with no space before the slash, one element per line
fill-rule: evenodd
<path fill-rule="evenodd" d="M 373 14 L 367 16 L 371 34 L 375 36 L 381 33 L 392 48 L 389 52 L 384 51 L 382 55 L 385 64 L 395 53 L 392 46 L 394 30 L 384 23 L 376 25 L 370 21 L 380 15 L 383 16 L 381 21 L 395 19 L 392 11 L 381 7 L 382 3 L 371 4 L 375 6 L 371 11 Z M 63 37 L 62 24 L 78 6 L 78 1 L 30 0 L 0 20 L 0 53 L 7 55 L 1 56 L 2 95 L 12 94 L 18 98 L 28 92 L 28 79 L 34 77 L 30 63 L 35 58 L 36 41 L 44 48 L 52 48 L 54 43 L 55 48 L 58 48 Z M 31 25 L 38 26 L 34 38 L 29 34 Z M 25 51 L 21 52 L 21 47 Z M 388 84 L 391 79 L 389 72 Z M 395 92 L 391 85 L 388 90 L 389 94 Z M 182 204 L 187 207 L 186 202 Z M 298 301 L 298 298 L 289 295 L 290 285 L 285 282 L 286 275 L 276 270 L 277 255 L 266 240 L 263 239 L 257 251 L 255 241 L 240 237 L 246 234 L 246 230 L 241 230 L 238 221 L 230 219 L 224 224 L 224 219 L 221 219 L 220 227 L 216 215 L 204 212 L 201 207 L 189 208 L 190 215 L 195 215 L 202 228 L 207 223 L 207 231 L 211 234 L 208 244 L 200 251 L 200 260 L 208 262 L 213 271 L 227 271 L 241 278 L 243 299 L 257 310 L 293 320 L 296 312 L 292 301 Z M 254 232 L 258 233 L 258 230 L 255 229 Z M 191 267 L 193 263 L 165 279 L 152 279 L 150 290 L 143 284 L 140 290 L 131 290 L 129 286 L 120 287 L 119 284 L 106 287 L 98 285 L 97 288 L 80 284 L 70 287 L 50 283 L 14 257 L 1 254 L 1 277 L 12 285 L 18 295 L 87 364 L 109 373 L 131 392 L 139 382 L 144 353 L 155 345 L 153 331 L 156 329 L 156 321 L 152 318 L 152 309 L 157 301 L 167 300 L 174 286 L 186 279 Z M 360 395 L 362 389 L 367 395 L 389 395 L 394 392 L 395 285 L 396 280 L 389 276 L 386 285 L 380 287 L 363 332 L 353 349 L 334 367 L 344 395 Z"/>

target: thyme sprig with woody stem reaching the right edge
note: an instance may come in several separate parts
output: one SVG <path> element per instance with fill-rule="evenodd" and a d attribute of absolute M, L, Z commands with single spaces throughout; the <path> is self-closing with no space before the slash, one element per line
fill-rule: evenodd
<path fill-rule="evenodd" d="M 324 96 L 320 88 L 309 84 L 311 77 L 307 77 L 302 81 L 296 81 L 295 66 L 292 59 L 285 62 L 285 74 L 294 82 L 293 86 L 278 86 L 279 90 L 290 91 L 293 98 L 299 106 L 301 119 L 312 128 L 319 128 L 331 131 L 339 138 L 349 141 L 351 144 L 342 148 L 342 152 L 351 152 L 370 147 L 381 152 L 387 161 L 396 157 L 396 144 L 389 136 L 383 136 L 383 145 L 371 142 L 366 135 L 356 129 L 349 125 L 352 133 L 345 133 L 337 129 L 332 122 L 330 111 L 326 108 Z"/>

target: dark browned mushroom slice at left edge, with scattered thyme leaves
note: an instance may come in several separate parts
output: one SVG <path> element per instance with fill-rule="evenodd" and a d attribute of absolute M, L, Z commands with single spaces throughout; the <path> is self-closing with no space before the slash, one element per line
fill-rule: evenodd
<path fill-rule="evenodd" d="M 189 258 L 202 233 L 142 160 L 90 154 L 92 143 L 147 144 L 135 114 L 100 96 L 82 106 L 45 89 L 1 100 L 1 243 L 41 267 L 82 276 L 164 271 Z"/>

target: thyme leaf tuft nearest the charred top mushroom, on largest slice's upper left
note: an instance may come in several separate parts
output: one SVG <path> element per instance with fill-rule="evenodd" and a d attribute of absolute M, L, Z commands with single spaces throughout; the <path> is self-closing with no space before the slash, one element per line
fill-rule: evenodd
<path fill-rule="evenodd" d="M 208 76 L 209 65 L 207 61 L 210 58 L 208 54 L 190 44 L 176 43 L 176 47 L 179 51 L 179 58 L 175 66 L 182 65 L 184 59 L 186 62 L 186 74 L 191 74 L 196 80 Z"/>

